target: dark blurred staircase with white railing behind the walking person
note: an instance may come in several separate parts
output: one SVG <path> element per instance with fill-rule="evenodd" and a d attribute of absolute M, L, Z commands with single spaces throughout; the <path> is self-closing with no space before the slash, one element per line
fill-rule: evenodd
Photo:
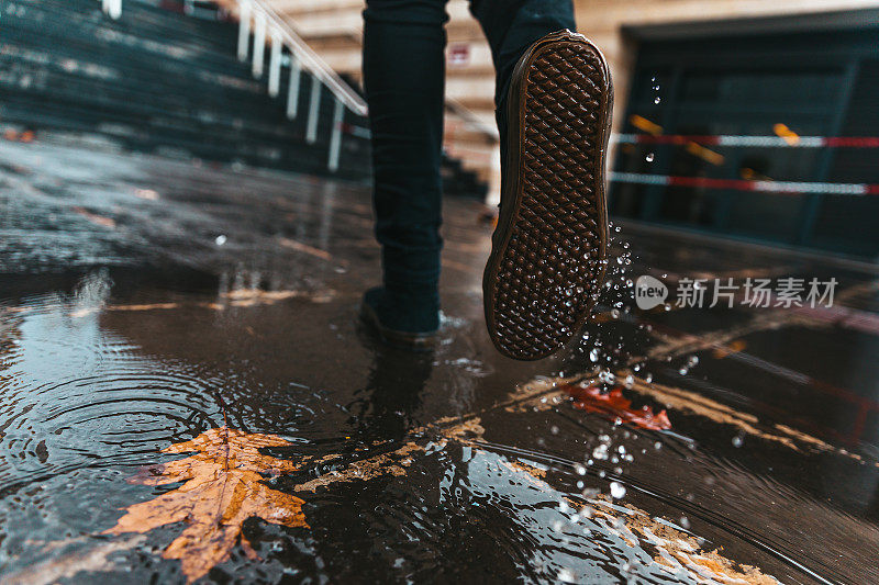
<path fill-rule="evenodd" d="M 255 36 L 242 60 L 238 24 L 216 3 L 107 4 L 116 18 L 96 0 L 0 0 L 0 128 L 37 138 L 98 135 L 177 158 L 370 176 L 365 103 L 319 59 L 285 45 L 271 81 L 271 43 L 257 75 Z M 288 92 L 293 60 L 298 83 Z M 485 196 L 485 184 L 458 161 L 447 158 L 443 176 L 447 193 Z"/>

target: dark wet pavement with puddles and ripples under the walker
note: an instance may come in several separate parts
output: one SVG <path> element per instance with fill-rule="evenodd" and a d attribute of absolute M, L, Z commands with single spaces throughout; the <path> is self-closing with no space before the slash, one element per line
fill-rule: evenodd
<path fill-rule="evenodd" d="M 355 318 L 365 185 L 100 145 L 0 161 L 0 582 L 186 582 L 185 521 L 104 532 L 179 486 L 130 477 L 224 426 L 307 463 L 265 483 L 308 527 L 246 519 L 205 581 L 879 582 L 876 267 L 624 225 L 582 338 L 515 362 L 485 331 L 483 210 L 447 200 L 442 344 L 409 355 Z M 641 311 L 642 274 L 839 285 Z M 631 407 L 570 398 L 593 386 Z"/>

